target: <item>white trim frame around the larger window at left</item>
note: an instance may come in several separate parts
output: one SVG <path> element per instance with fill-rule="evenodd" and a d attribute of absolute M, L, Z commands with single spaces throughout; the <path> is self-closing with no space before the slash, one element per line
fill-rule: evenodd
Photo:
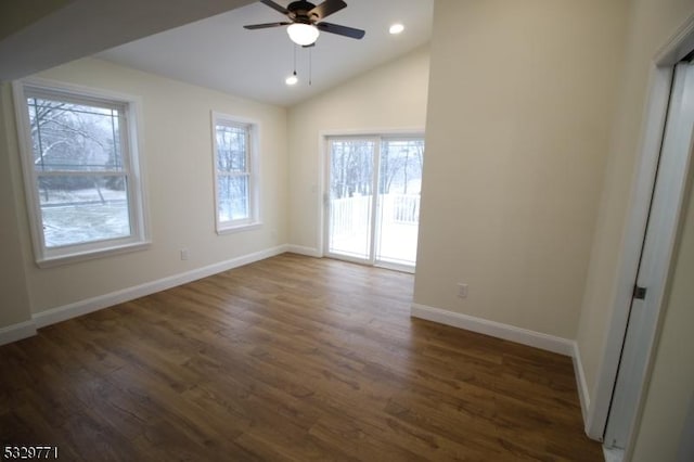
<path fill-rule="evenodd" d="M 126 106 L 128 163 L 130 165 L 130 181 L 128 181 L 129 214 L 132 234 L 128 238 L 104 240 L 85 244 L 68 245 L 57 248 L 47 248 L 43 240 L 41 209 L 37 196 L 36 174 L 34 171 L 33 147 L 30 142 L 30 124 L 26 103 L 25 87 L 40 88 L 47 91 L 64 93 L 67 97 L 88 98 L 95 100 L 117 101 Z M 31 244 L 36 264 L 40 268 L 49 268 L 114 254 L 134 252 L 151 245 L 149 232 L 149 209 L 146 207 L 144 168 L 141 156 L 142 146 L 142 102 L 140 98 L 128 94 L 59 82 L 41 78 L 27 78 L 12 84 L 17 138 L 24 175 Z M 130 198 L 131 197 L 131 198 Z"/>

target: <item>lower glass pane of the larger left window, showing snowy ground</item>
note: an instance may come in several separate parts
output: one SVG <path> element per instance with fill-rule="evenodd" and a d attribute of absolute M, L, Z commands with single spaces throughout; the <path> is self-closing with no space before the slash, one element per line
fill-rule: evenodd
<path fill-rule="evenodd" d="M 39 177 L 46 247 L 131 234 L 125 176 Z"/>

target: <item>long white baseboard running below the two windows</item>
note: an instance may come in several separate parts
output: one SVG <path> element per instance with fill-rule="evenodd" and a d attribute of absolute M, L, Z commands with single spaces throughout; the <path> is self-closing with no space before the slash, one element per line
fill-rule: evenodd
<path fill-rule="evenodd" d="M 165 291 L 177 285 L 187 284 L 198 279 L 207 278 L 209 275 L 217 274 L 232 268 L 237 268 L 244 265 L 252 264 L 254 261 L 270 258 L 287 252 L 286 247 L 287 246 L 285 245 L 280 245 L 278 247 L 268 248 L 265 251 L 232 258 L 230 260 L 209 265 L 207 267 L 197 268 L 184 273 L 159 279 L 157 281 L 147 282 L 141 285 L 136 285 L 133 287 L 127 287 L 121 291 L 116 291 L 110 294 L 100 295 L 98 297 L 88 298 L 86 300 L 76 301 L 74 304 L 52 308 L 47 311 L 34 315 L 34 323 L 36 324 L 37 329 L 44 328 L 47 325 L 65 321 L 70 318 L 87 315 L 89 312 L 98 311 L 103 308 L 133 300 L 145 295 Z"/>

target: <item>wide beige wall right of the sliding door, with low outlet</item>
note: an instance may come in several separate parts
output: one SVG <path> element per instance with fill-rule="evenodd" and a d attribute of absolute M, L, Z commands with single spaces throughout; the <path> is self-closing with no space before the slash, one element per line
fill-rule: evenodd
<path fill-rule="evenodd" d="M 436 2 L 415 303 L 575 338 L 625 9 Z"/>

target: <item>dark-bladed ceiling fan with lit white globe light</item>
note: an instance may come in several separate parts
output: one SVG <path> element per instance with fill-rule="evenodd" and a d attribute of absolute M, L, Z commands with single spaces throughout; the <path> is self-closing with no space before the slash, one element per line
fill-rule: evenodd
<path fill-rule="evenodd" d="M 284 14 L 290 21 L 281 23 L 252 24 L 244 26 L 246 29 L 266 29 L 269 27 L 287 27 L 287 34 L 292 41 L 304 47 L 312 46 L 320 31 L 337 34 L 339 36 L 361 39 L 365 31 L 354 27 L 340 26 L 339 24 L 325 23 L 323 20 L 333 13 L 347 7 L 343 0 L 325 0 L 318 7 L 311 2 L 299 0 L 293 1 L 286 8 L 272 0 L 260 0 L 261 3 Z"/>

